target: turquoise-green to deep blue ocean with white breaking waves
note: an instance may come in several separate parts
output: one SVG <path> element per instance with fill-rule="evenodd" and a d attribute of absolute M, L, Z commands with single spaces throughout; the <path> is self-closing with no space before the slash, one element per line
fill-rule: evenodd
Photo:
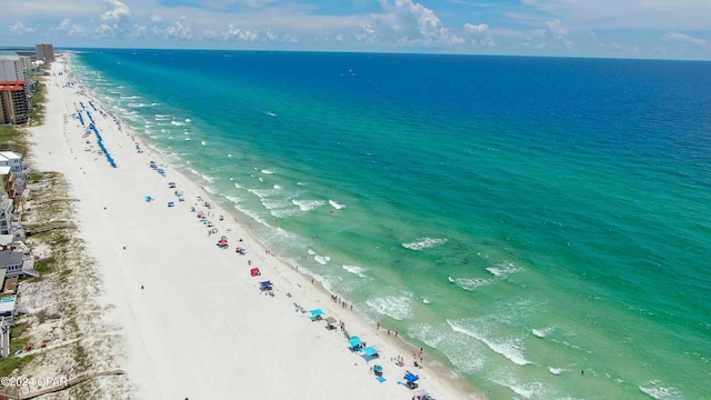
<path fill-rule="evenodd" d="M 273 253 L 490 398 L 711 396 L 711 62 L 70 57 Z"/>

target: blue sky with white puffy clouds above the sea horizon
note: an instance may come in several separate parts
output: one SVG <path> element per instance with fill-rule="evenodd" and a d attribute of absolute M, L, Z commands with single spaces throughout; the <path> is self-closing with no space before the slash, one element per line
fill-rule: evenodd
<path fill-rule="evenodd" d="M 0 46 L 711 60 L 711 0 L 2 0 Z"/>

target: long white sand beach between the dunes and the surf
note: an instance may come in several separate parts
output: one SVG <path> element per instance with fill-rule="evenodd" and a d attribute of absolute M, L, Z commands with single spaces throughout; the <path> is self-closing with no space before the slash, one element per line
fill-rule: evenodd
<path fill-rule="evenodd" d="M 33 159 L 38 169 L 64 174 L 71 197 L 79 199 L 79 231 L 97 261 L 102 301 L 112 306 L 106 319 L 121 327 L 121 362 L 134 387 L 130 398 L 412 399 L 418 390 L 399 383 L 407 370 L 435 399 L 479 398 L 427 354 L 423 368 L 414 368 L 412 349 L 394 334 L 333 302 L 318 282 L 261 247 L 90 93 L 67 86 L 72 79 L 67 68 L 60 57 L 46 81 L 46 123 L 31 129 Z M 118 168 L 98 154 L 94 132 L 84 136 L 87 127 L 73 117 L 80 103 L 91 112 Z M 151 160 L 164 177 L 149 166 Z M 154 200 L 146 201 L 147 196 Z M 209 214 L 218 233 L 208 233 L 199 211 Z M 227 249 L 216 246 L 221 236 L 229 240 Z M 238 254 L 236 247 L 247 254 Z M 251 277 L 252 267 L 262 274 Z M 260 291 L 263 280 L 273 282 L 274 296 Z M 350 334 L 378 347 L 381 357 L 367 360 L 352 352 L 340 329 L 327 330 L 298 307 L 320 308 L 343 321 Z M 399 356 L 404 366 L 392 361 Z M 383 367 L 383 382 L 370 371 L 374 364 Z"/>

